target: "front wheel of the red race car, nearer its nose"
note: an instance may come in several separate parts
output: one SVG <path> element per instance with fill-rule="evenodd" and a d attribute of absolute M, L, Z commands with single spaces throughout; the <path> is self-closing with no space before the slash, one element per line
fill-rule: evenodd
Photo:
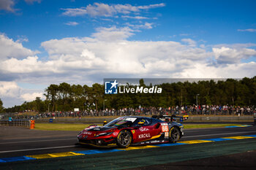
<path fill-rule="evenodd" d="M 116 139 L 116 144 L 118 147 L 127 148 L 131 143 L 132 134 L 127 130 L 120 131 Z"/>

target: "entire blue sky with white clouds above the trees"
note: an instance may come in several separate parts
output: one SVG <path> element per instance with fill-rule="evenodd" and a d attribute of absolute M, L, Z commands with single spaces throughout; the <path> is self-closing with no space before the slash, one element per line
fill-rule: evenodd
<path fill-rule="evenodd" d="M 103 78 L 256 75 L 256 1 L 0 0 L 0 98 Z"/>

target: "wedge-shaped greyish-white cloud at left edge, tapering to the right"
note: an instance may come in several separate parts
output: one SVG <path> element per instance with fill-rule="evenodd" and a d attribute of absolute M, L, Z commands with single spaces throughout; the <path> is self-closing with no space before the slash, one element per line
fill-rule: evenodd
<path fill-rule="evenodd" d="M 24 58 L 38 53 L 38 51 L 32 51 L 23 47 L 20 41 L 15 42 L 4 34 L 0 34 L 0 51 L 0 61 L 7 58 Z"/>

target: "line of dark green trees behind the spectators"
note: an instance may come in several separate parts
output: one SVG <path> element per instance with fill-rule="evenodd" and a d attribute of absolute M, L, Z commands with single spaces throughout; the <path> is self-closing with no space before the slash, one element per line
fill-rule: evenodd
<path fill-rule="evenodd" d="M 145 85 L 140 80 L 140 85 Z M 131 85 L 128 85 L 132 87 Z M 72 111 L 74 108 L 83 110 L 121 109 L 138 107 L 175 107 L 193 104 L 233 106 L 256 105 L 256 76 L 244 77 L 242 80 L 227 79 L 199 82 L 173 82 L 157 85 L 162 93 L 118 93 L 105 94 L 104 85 L 95 83 L 88 85 L 70 85 L 62 82 L 52 84 L 45 89 L 45 100 L 37 97 L 34 101 L 24 102 L 20 106 L 2 109 L 4 112 L 37 112 Z M 0 106 L 1 108 L 1 106 Z"/>

